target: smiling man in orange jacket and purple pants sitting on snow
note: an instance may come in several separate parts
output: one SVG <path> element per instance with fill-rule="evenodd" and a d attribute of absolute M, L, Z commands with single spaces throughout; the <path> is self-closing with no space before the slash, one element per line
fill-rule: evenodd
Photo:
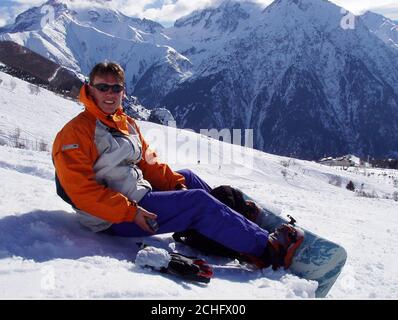
<path fill-rule="evenodd" d="M 269 234 L 210 195 L 192 171 L 160 163 L 123 112 L 124 81 L 120 65 L 97 64 L 80 91 L 85 110 L 54 141 L 57 193 L 79 221 L 124 237 L 193 229 L 261 267 L 289 267 L 302 231 L 284 224 Z"/>

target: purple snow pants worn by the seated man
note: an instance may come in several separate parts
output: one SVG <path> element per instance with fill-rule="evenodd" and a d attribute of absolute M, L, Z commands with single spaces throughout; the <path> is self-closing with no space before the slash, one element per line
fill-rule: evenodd
<path fill-rule="evenodd" d="M 157 234 L 195 229 L 230 249 L 260 257 L 268 232 L 210 195 L 209 185 L 192 171 L 177 172 L 185 177 L 188 190 L 151 191 L 138 203 L 158 216 Z M 123 237 L 150 235 L 134 222 L 113 224 L 107 233 Z"/>

